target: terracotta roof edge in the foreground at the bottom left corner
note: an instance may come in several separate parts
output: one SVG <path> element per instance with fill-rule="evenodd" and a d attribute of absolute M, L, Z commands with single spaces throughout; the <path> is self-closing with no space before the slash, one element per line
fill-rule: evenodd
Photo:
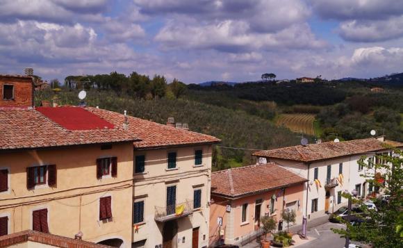
<path fill-rule="evenodd" d="M 53 247 L 76 247 L 76 248 L 109 248 L 108 245 L 99 245 L 93 242 L 75 240 L 73 238 L 67 238 L 50 233 L 41 233 L 39 231 L 20 231 L 9 235 L 3 235 L 0 237 L 0 247 L 10 247 L 11 245 L 17 245 L 23 242 L 36 242 L 44 245 L 50 245 Z M 29 246 L 28 246 L 29 247 Z"/>

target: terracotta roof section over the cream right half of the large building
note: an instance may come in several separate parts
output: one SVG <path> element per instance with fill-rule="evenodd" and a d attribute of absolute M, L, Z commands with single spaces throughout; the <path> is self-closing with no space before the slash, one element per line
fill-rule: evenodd
<path fill-rule="evenodd" d="M 95 115 L 99 115 L 108 122 L 120 124 L 121 115 L 108 110 L 87 107 Z M 169 147 L 181 144 L 204 144 L 217 143 L 221 140 L 201 133 L 196 133 L 184 129 L 176 129 L 172 126 L 150 122 L 145 119 L 128 116 L 129 131 L 140 138 L 140 142 L 135 142 L 134 147 L 138 149 L 149 149 L 158 147 Z"/>

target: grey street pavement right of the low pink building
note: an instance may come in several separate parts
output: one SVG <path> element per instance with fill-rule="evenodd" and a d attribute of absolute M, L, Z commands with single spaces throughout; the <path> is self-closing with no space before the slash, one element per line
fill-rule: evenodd
<path fill-rule="evenodd" d="M 344 224 L 337 224 L 327 222 L 320 226 L 313 227 L 306 231 L 309 237 L 315 238 L 311 242 L 307 242 L 304 245 L 298 245 L 298 248 L 343 248 L 345 245 L 345 239 L 340 238 L 340 235 L 331 231 L 331 228 L 344 228 Z"/>

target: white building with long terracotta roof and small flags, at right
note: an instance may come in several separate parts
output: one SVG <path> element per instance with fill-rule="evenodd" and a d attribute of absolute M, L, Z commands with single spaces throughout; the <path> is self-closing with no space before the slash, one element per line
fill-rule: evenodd
<path fill-rule="evenodd" d="M 360 197 L 375 190 L 361 176 L 370 169 L 361 167 L 358 161 L 365 156 L 375 162 L 375 155 L 390 152 L 384 144 L 403 147 L 403 143 L 380 137 L 257 151 L 254 156 L 262 163 L 277 163 L 309 180 L 304 188 L 304 216 L 315 218 L 346 205 L 347 199 L 341 197 L 345 190 L 356 189 Z"/>

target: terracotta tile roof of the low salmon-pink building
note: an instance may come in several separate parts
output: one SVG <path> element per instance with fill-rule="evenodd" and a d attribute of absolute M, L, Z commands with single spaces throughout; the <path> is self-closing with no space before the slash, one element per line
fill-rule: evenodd
<path fill-rule="evenodd" d="M 211 194 L 240 197 L 307 181 L 275 163 L 249 165 L 213 172 Z"/>

